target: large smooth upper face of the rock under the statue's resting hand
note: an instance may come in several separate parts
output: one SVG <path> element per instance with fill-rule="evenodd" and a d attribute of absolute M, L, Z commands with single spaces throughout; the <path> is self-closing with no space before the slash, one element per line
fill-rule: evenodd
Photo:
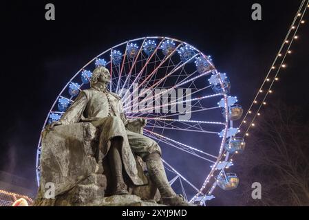
<path fill-rule="evenodd" d="M 85 132 L 87 131 L 87 132 Z M 73 188 L 76 183 L 96 172 L 92 142 L 96 132 L 89 123 L 60 125 L 44 131 L 41 152 L 41 186 L 52 182 L 55 195 Z M 88 136 L 87 136 L 88 135 Z M 43 194 L 46 188 L 41 187 Z"/>

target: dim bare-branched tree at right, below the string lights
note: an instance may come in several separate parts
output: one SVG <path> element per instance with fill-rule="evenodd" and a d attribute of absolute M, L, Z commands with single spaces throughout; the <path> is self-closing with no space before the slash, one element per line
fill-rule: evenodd
<path fill-rule="evenodd" d="M 216 190 L 222 205 L 309 206 L 309 127 L 306 111 L 275 103 L 258 117 L 246 150 L 231 168 L 239 175 L 232 192 Z M 253 182 L 262 184 L 262 199 L 253 199 Z"/>

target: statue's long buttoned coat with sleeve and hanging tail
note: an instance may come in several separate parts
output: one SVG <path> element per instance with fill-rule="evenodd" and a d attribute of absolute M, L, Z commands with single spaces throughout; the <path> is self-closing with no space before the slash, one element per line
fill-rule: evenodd
<path fill-rule="evenodd" d="M 109 91 L 100 90 L 96 88 L 81 91 L 74 103 L 63 113 L 59 122 L 62 124 L 77 122 L 100 124 L 98 148 L 104 156 L 109 151 L 111 138 L 121 136 L 123 138 L 121 156 L 125 171 L 134 184 L 145 184 L 138 176 L 136 159 L 129 146 L 125 128 L 127 118 L 123 112 L 121 99 Z"/>

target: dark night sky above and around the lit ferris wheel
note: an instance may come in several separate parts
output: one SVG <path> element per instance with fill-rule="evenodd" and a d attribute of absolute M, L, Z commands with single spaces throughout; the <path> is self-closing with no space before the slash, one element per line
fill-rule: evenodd
<path fill-rule="evenodd" d="M 91 58 L 129 39 L 171 36 L 211 54 L 246 109 L 300 2 L 1 2 L 0 170 L 34 182 L 40 131 L 59 91 Z M 56 21 L 45 20 L 46 3 L 54 3 Z M 262 21 L 251 19 L 253 3 L 262 5 Z M 308 34 L 307 23 L 274 89 L 276 98 L 306 108 Z"/>

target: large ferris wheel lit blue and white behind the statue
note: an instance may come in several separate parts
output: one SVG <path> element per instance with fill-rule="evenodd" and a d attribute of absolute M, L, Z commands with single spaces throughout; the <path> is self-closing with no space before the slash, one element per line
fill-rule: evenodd
<path fill-rule="evenodd" d="M 78 93 L 88 89 L 92 71 L 109 69 L 109 90 L 122 97 L 127 118 L 144 118 L 144 135 L 162 148 L 169 183 L 187 201 L 206 205 L 213 190 L 236 188 L 231 155 L 244 150 L 233 122 L 242 107 L 230 96 L 231 83 L 215 68 L 211 56 L 163 36 L 125 41 L 105 50 L 84 65 L 63 87 L 45 123 L 59 120 Z M 36 156 L 40 178 L 41 138 Z"/>

